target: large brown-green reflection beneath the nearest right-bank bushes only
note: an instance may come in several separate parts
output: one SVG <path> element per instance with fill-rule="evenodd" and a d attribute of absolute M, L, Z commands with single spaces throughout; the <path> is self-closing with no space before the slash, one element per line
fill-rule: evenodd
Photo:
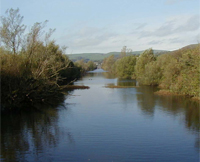
<path fill-rule="evenodd" d="M 155 95 L 154 92 L 158 90 L 156 87 L 141 86 L 136 89 L 139 92 L 137 93 L 138 105 L 144 114 L 153 116 L 156 108 L 174 116 L 182 113 L 186 127 L 193 131 L 199 131 L 199 102 L 183 96 Z"/>

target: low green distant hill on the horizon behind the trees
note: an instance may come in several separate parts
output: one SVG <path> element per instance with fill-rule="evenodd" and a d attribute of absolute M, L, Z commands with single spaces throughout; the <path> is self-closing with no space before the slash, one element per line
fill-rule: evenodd
<path fill-rule="evenodd" d="M 129 55 L 139 55 L 141 53 L 143 53 L 143 51 L 133 51 L 131 54 Z M 165 50 L 154 50 L 154 53 L 156 55 L 159 54 L 163 54 L 163 53 L 167 53 L 169 51 L 165 51 Z M 67 55 L 69 57 L 70 60 L 72 61 L 77 61 L 77 60 L 81 60 L 84 59 L 86 61 L 98 61 L 101 62 L 103 61 L 104 58 L 114 55 L 115 57 L 118 57 L 120 55 L 121 52 L 109 52 L 109 53 L 77 53 L 77 54 L 69 54 Z"/>

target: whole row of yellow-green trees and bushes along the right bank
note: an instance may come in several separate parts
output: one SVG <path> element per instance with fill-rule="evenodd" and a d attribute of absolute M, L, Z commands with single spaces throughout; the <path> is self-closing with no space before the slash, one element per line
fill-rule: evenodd
<path fill-rule="evenodd" d="M 104 59 L 102 68 L 119 78 L 136 79 L 141 85 L 156 85 L 162 93 L 200 99 L 200 44 L 162 55 L 152 49 L 139 56 Z M 160 92 L 161 93 L 161 92 Z"/>

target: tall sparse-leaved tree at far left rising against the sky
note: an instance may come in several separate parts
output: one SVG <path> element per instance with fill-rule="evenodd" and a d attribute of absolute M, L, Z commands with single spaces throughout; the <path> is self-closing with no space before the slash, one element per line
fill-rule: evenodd
<path fill-rule="evenodd" d="M 22 35 L 26 26 L 22 24 L 23 16 L 19 14 L 19 9 L 8 9 L 6 17 L 1 17 L 0 37 L 1 42 L 16 54 L 22 42 Z"/>

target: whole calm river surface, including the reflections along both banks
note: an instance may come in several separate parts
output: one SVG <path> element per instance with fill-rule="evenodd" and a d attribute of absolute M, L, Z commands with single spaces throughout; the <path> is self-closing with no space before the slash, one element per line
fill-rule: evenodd
<path fill-rule="evenodd" d="M 2 161 L 198 162 L 199 105 L 90 73 L 57 108 L 1 117 Z M 136 86 L 106 88 L 106 85 Z"/>

